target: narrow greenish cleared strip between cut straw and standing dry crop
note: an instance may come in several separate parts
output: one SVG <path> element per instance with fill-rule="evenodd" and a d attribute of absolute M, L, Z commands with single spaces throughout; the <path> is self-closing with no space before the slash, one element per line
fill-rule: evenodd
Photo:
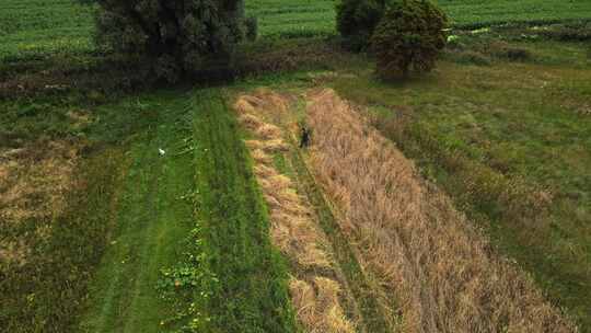
<path fill-rule="evenodd" d="M 340 265 L 351 289 L 359 311 L 362 315 L 362 324 L 367 332 L 393 332 L 386 314 L 381 310 L 373 286 L 368 282 L 361 265 L 357 261 L 354 250 L 350 248 L 349 238 L 340 230 L 329 204 L 324 198 L 321 188 L 316 185 L 314 176 L 308 169 L 303 157 L 296 148 L 296 142 L 291 142 L 290 160 L 296 171 L 299 183 L 302 185 L 310 203 L 318 217 L 318 221 L 324 232 L 333 245 L 335 259 Z"/>

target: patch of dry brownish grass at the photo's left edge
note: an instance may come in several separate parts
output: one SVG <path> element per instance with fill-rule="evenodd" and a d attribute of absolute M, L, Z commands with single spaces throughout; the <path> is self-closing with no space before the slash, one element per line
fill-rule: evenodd
<path fill-rule="evenodd" d="M 0 227 L 16 229 L 26 221 L 50 221 L 66 209 L 66 194 L 74 186 L 80 143 L 36 142 L 0 151 Z M 30 239 L 49 236 L 49 223 L 35 226 Z M 0 240 L 0 263 L 24 264 L 27 240 Z"/>

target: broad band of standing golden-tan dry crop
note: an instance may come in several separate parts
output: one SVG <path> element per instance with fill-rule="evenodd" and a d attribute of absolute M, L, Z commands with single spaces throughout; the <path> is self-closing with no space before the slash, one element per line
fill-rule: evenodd
<path fill-rule="evenodd" d="M 405 332 L 577 332 L 334 91 L 311 94 L 317 180 L 402 305 Z"/>

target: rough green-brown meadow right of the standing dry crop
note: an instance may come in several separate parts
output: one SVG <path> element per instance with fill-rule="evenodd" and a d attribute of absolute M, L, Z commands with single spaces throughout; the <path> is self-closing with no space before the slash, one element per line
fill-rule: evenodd
<path fill-rule="evenodd" d="M 484 54 L 490 64 L 466 66 L 453 56 L 453 62 L 442 62 L 441 74 L 394 87 L 375 82 L 359 67 L 355 80 L 334 84 L 343 95 L 371 105 L 375 126 L 586 332 L 591 64 L 584 44 L 531 41 L 523 30 L 517 32 L 485 39 L 468 33 L 459 41 L 464 50 L 480 47 L 474 41 L 524 48 L 531 51 L 526 60 Z M 494 30 L 484 34 L 498 36 Z M 515 74 L 522 79 L 514 81 Z"/>

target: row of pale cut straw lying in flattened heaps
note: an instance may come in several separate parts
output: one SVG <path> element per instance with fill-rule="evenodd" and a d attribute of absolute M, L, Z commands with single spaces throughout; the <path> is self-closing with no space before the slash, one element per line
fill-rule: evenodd
<path fill-rule="evenodd" d="M 298 195 L 291 180 L 280 174 L 269 153 L 289 147 L 282 130 L 258 118 L 255 113 L 287 112 L 289 102 L 270 92 L 242 95 L 234 104 L 241 124 L 252 130 L 257 140 L 247 140 L 254 160 L 254 172 L 270 213 L 270 237 L 301 272 L 333 272 L 333 259 L 325 250 L 327 241 L 314 223 L 312 211 Z M 311 333 L 352 333 L 354 324 L 344 314 L 339 302 L 340 284 L 315 273 L 292 276 L 289 290 L 299 321 Z"/>

